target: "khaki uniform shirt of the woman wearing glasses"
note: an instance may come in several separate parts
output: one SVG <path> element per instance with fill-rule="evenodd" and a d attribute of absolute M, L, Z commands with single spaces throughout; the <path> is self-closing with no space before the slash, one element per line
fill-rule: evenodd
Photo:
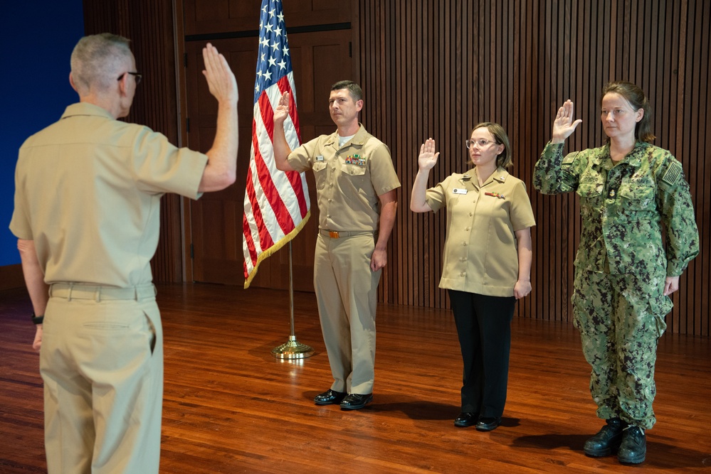
<path fill-rule="evenodd" d="M 479 185 L 476 168 L 427 190 L 437 212 L 447 208 L 443 289 L 513 296 L 518 280 L 515 232 L 536 225 L 526 185 L 504 168 Z"/>

